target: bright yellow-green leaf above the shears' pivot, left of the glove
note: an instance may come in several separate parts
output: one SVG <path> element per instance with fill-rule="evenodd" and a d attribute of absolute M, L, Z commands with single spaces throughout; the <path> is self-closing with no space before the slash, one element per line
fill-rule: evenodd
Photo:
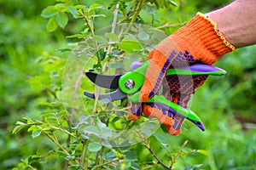
<path fill-rule="evenodd" d="M 140 42 L 130 37 L 125 37 L 122 42 L 119 43 L 119 48 L 124 50 L 126 53 L 133 53 L 134 51 L 141 51 L 143 49 Z"/>

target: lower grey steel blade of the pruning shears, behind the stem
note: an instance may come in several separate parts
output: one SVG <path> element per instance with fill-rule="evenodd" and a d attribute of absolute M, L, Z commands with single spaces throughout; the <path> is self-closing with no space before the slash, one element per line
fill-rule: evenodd
<path fill-rule="evenodd" d="M 90 92 L 84 91 L 84 95 L 87 97 L 90 97 L 92 99 L 95 99 L 95 94 L 91 94 Z M 100 94 L 99 99 L 109 99 L 111 101 L 113 100 L 119 100 L 119 99 L 125 99 L 127 98 L 127 95 L 124 94 L 119 88 L 113 92 L 110 92 L 108 94 Z"/>

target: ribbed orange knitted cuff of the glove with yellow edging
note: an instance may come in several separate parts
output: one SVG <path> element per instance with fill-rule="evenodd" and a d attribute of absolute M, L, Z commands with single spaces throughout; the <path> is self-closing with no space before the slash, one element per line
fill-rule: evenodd
<path fill-rule="evenodd" d="M 197 13 L 193 20 L 171 37 L 179 48 L 188 50 L 194 59 L 208 65 L 216 62 L 218 57 L 235 50 L 235 47 L 218 31 L 216 23 L 201 13 Z"/>

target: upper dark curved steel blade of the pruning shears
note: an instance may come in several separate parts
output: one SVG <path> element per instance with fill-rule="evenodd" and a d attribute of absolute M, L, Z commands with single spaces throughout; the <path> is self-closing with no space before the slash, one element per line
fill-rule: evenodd
<path fill-rule="evenodd" d="M 94 72 L 85 72 L 86 77 L 102 88 L 116 89 L 119 88 L 119 78 L 123 75 L 101 75 Z"/>

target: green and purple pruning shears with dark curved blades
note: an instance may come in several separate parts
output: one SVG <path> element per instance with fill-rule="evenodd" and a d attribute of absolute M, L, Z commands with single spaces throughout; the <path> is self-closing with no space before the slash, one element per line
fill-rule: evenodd
<path fill-rule="evenodd" d="M 147 71 L 150 60 L 144 63 L 131 64 L 130 70 L 124 74 L 119 75 L 102 75 L 94 72 L 85 72 L 86 77 L 94 82 L 97 86 L 102 88 L 112 89 L 113 91 L 107 94 L 99 94 L 98 99 L 109 99 L 110 101 L 129 98 L 131 102 L 140 102 L 140 88 L 143 87 L 143 82 L 145 80 L 145 73 Z M 222 76 L 226 71 L 212 66 L 204 64 L 195 64 L 182 66 L 177 68 L 172 68 L 166 71 L 166 76 L 169 75 L 212 75 L 212 76 Z M 84 95 L 95 99 L 95 94 L 84 91 Z M 129 97 L 128 97 L 129 96 Z M 155 94 L 153 98 L 148 99 L 148 101 L 143 101 L 144 103 L 159 103 L 172 110 L 173 113 L 183 116 L 190 122 L 193 122 L 197 127 L 201 128 L 202 131 L 205 130 L 203 123 L 199 116 L 195 112 L 185 109 L 180 105 L 177 105 L 162 94 Z"/>

